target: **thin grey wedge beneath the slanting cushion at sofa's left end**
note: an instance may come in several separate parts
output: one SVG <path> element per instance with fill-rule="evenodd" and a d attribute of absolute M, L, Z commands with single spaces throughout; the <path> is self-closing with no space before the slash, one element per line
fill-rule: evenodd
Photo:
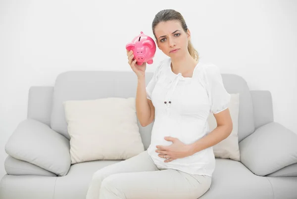
<path fill-rule="evenodd" d="M 39 166 L 29 162 L 15 159 L 8 155 L 4 162 L 5 171 L 9 175 L 39 175 L 56 176 L 56 174 L 47 171 Z"/>

